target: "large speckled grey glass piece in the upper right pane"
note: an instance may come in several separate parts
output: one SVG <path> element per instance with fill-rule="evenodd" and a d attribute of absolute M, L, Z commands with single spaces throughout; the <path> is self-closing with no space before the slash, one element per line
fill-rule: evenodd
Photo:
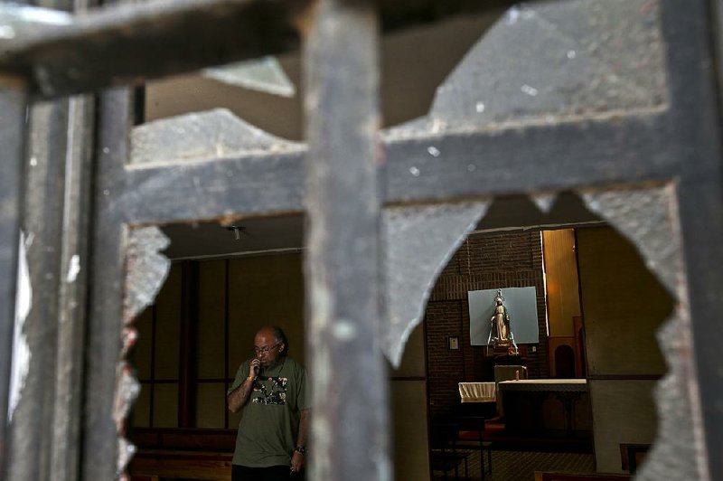
<path fill-rule="evenodd" d="M 657 1 L 514 7 L 437 89 L 427 117 L 388 135 L 661 109 L 667 103 L 663 58 Z"/>

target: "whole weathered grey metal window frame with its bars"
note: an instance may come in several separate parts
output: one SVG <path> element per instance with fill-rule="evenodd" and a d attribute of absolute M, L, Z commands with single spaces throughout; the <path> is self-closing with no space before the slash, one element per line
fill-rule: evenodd
<path fill-rule="evenodd" d="M 61 351 L 56 352 L 56 347 L 38 351 L 59 361 L 51 392 L 62 397 L 58 398 L 61 401 L 49 399 L 42 384 L 35 384 L 34 391 L 28 392 L 25 399 L 31 400 L 33 408 L 27 409 L 37 417 L 28 421 L 22 444 L 19 437 L 12 436 L 18 428 L 10 429 L 4 417 L 0 423 L 0 479 L 49 479 L 51 467 L 58 474 L 53 479 L 118 476 L 115 461 L 122 419 L 120 423 L 114 419 L 122 414 L 117 406 L 122 404 L 118 397 L 124 394 L 117 382 L 117 369 L 124 327 L 120 321 L 126 317 L 123 292 L 129 226 L 214 218 L 228 212 L 302 212 L 306 203 L 311 219 L 307 238 L 309 338 L 315 353 L 311 366 L 333 366 L 330 377 L 314 385 L 314 400 L 324 409 L 315 416 L 313 437 L 317 458 L 325 460 L 317 462 L 315 475 L 334 480 L 388 479 L 387 394 L 384 389 L 368 389 L 370 385 L 378 387 L 378 380 L 384 378 L 376 332 L 383 287 L 379 264 L 369 262 L 380 256 L 381 206 L 649 181 L 672 182 L 681 193 L 677 208 L 695 351 L 680 355 L 688 356 L 695 366 L 690 375 L 697 380 L 695 386 L 700 392 L 700 405 L 695 408 L 700 409 L 704 435 L 699 447 L 701 477 L 723 476 L 723 459 L 707 453 L 707 447 L 714 451 L 723 445 L 723 374 L 717 342 L 718 323 L 723 317 L 723 303 L 718 299 L 723 271 L 715 269 L 723 265 L 723 173 L 716 71 L 720 65 L 720 12 L 715 2 L 661 0 L 670 98 L 669 108 L 662 111 L 607 122 L 383 141 L 376 127 L 378 16 L 367 4 L 324 0 L 310 13 L 306 10 L 315 4 L 291 0 L 120 5 L 88 14 L 68 27 L 3 41 L 0 152 L 5 165 L 0 176 L 0 306 L 4 308 L 0 339 L 4 348 L 0 350 L 0 411 L 7 410 L 18 232 L 23 222 L 33 222 L 30 212 L 61 216 L 64 232 L 62 238 L 55 232 L 59 238 L 48 241 L 60 255 L 39 254 L 32 262 L 61 266 L 60 272 L 67 272 L 72 257 L 80 255 L 87 270 L 81 270 L 83 277 L 77 284 L 63 283 L 56 276 L 45 285 L 54 286 L 52 290 L 58 295 L 50 301 L 59 306 L 57 316 L 70 319 L 70 328 L 58 333 Z M 239 32 L 233 22 L 219 23 L 220 16 L 230 19 L 249 12 L 258 15 L 252 18 L 268 21 L 273 26 L 271 33 L 253 28 Z M 304 14 L 314 20 L 304 20 Z M 149 23 L 158 28 L 146 28 Z M 305 61 L 309 90 L 313 92 L 307 99 L 307 151 L 267 157 L 264 163 L 253 162 L 249 156 L 209 160 L 189 166 L 183 174 L 173 166 L 128 167 L 133 102 L 126 88 L 113 88 L 99 95 L 92 162 L 91 146 L 70 137 L 80 131 L 82 136 L 91 137 L 87 135 L 92 125 L 89 99 L 61 100 L 69 102 L 67 114 L 58 114 L 69 119 L 67 133 L 35 141 L 47 146 L 66 145 L 73 153 L 76 169 L 66 171 L 63 189 L 70 193 L 70 199 L 66 197 L 63 208 L 47 211 L 33 204 L 34 195 L 24 192 L 33 179 L 24 152 L 29 132 L 25 110 L 30 102 L 126 84 L 138 76 L 150 78 L 277 52 L 294 44 L 296 37 L 290 33 L 296 24 L 307 31 Z M 340 25 L 343 28 L 333 28 Z M 191 26 L 204 32 L 212 26 L 218 31 L 209 41 L 219 47 L 214 51 L 218 55 L 200 52 L 193 48 L 194 42 L 183 38 L 186 33 L 180 28 Z M 344 36 L 335 37 L 339 31 L 352 33 L 357 39 L 355 46 L 347 45 Z M 105 50 L 89 51 L 87 45 L 83 47 L 89 39 L 112 42 Z M 114 59 L 114 53 L 128 46 L 146 49 L 155 42 L 162 48 L 149 48 L 143 58 Z M 170 58 L 167 52 L 174 47 L 189 55 Z M 79 61 L 74 52 L 84 52 L 87 57 Z M 93 68 L 84 70 L 89 59 Z M 38 65 L 47 67 L 43 74 L 38 74 Z M 334 72 L 356 74 L 350 81 L 349 75 Z M 330 114 L 343 121 L 330 124 L 325 117 Z M 42 128 L 48 131 L 51 126 Z M 430 139 L 445 151 L 445 168 L 424 155 Z M 354 156 L 349 154 L 350 148 Z M 381 151 L 386 159 L 383 165 L 378 164 Z M 545 156 L 540 156 L 540 151 Z M 303 157 L 310 159 L 306 172 L 300 167 Z M 360 162 L 361 158 L 365 161 Z M 495 176 L 500 169 L 470 173 L 466 169 L 470 158 L 484 158 L 490 165 L 504 165 L 519 174 Z M 217 178 L 214 168 L 219 162 L 235 171 L 235 179 L 247 180 L 239 184 Z M 409 165 L 426 174 L 409 176 Z M 214 191 L 196 191 L 194 176 L 213 181 Z M 354 189 L 353 196 L 346 191 L 340 196 L 340 185 L 350 182 L 362 188 Z M 192 192 L 195 194 L 185 195 Z M 52 231 L 48 235 L 52 236 Z M 350 251 L 352 240 L 361 241 L 364 252 L 356 261 L 349 260 L 356 252 Z M 344 256 L 342 265 L 338 259 Z M 352 280 L 345 284 L 339 279 Z M 87 292 L 83 288 L 86 282 Z M 359 365 L 365 366 L 361 372 Z M 356 376 L 354 382 L 350 381 L 352 374 Z M 61 391 L 67 382 L 71 389 Z M 344 389 L 332 391 L 331 382 L 341 383 Z M 349 419 L 353 423 L 344 421 Z M 44 422 L 52 422 L 50 452 L 28 456 L 10 469 L 8 449 L 47 446 L 42 441 Z M 64 458 L 70 462 L 63 463 Z"/>

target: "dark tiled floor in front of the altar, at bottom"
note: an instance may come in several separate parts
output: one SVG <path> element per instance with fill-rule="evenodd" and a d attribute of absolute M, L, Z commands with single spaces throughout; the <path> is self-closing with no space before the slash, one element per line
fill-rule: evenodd
<path fill-rule="evenodd" d="M 595 459 L 592 454 L 580 453 L 493 451 L 492 467 L 492 475 L 485 475 L 484 481 L 533 481 L 535 471 L 593 473 L 595 472 Z M 454 478 L 454 473 L 448 474 L 450 481 Z M 441 473 L 435 473 L 434 479 L 440 481 L 444 477 L 441 476 Z M 465 479 L 464 465 L 460 467 L 459 479 Z M 469 458 L 468 479 L 473 481 L 481 479 L 479 452 L 474 452 Z"/>

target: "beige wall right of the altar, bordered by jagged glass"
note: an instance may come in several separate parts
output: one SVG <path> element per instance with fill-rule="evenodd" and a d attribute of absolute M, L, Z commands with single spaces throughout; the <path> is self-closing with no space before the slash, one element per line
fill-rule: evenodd
<path fill-rule="evenodd" d="M 665 373 L 655 332 L 671 298 L 634 247 L 608 227 L 577 231 L 597 470 L 622 472 L 621 443 L 653 443 L 654 380 Z"/>

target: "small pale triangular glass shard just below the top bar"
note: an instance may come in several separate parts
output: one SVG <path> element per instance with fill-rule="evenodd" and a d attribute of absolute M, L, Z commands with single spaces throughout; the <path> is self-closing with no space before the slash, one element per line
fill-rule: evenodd
<path fill-rule="evenodd" d="M 286 76 L 276 57 L 263 57 L 252 61 L 239 61 L 203 69 L 202 75 L 230 85 L 237 85 L 250 90 L 294 97 L 296 88 Z"/>

